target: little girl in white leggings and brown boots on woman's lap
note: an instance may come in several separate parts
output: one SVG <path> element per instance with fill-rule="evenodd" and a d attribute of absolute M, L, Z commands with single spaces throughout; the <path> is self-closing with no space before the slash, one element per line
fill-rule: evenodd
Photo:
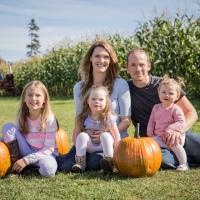
<path fill-rule="evenodd" d="M 120 140 L 116 116 L 110 111 L 109 92 L 104 86 L 90 88 L 83 100 L 83 110 L 78 115 L 81 132 L 76 137 L 76 163 L 73 172 L 86 168 L 86 152 L 103 151 L 100 166 L 105 172 L 113 171 L 113 148 Z M 100 141 L 93 140 L 93 133 L 100 131 Z"/>

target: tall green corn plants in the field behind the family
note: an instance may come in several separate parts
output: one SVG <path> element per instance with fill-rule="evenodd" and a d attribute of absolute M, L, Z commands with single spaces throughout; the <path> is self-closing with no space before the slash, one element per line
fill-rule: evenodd
<path fill-rule="evenodd" d="M 152 74 L 162 76 L 168 73 L 171 77 L 182 77 L 185 89 L 194 97 L 200 96 L 199 38 L 200 17 L 194 19 L 186 14 L 177 14 L 173 20 L 156 17 L 140 25 L 128 37 L 119 34 L 104 36 L 117 52 L 123 78 L 129 78 L 124 68 L 127 53 L 141 47 L 150 54 Z M 65 48 L 52 49 L 42 58 L 33 57 L 26 63 L 18 63 L 14 70 L 17 87 L 22 88 L 28 81 L 38 79 L 48 86 L 52 95 L 72 95 L 72 88 L 80 79 L 77 74 L 80 61 L 93 42 L 87 39 L 69 44 Z"/>

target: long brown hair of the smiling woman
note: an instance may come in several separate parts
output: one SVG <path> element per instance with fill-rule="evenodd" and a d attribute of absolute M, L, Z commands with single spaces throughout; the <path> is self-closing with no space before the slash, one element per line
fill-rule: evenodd
<path fill-rule="evenodd" d="M 90 58 L 94 52 L 94 49 L 97 47 L 103 47 L 110 56 L 110 66 L 108 68 L 106 78 L 103 84 L 104 86 L 108 88 L 109 94 L 112 93 L 114 81 L 119 76 L 118 59 L 112 46 L 108 42 L 103 41 L 103 40 L 94 42 L 93 45 L 85 54 L 85 56 L 83 57 L 81 65 L 80 65 L 80 69 L 79 69 L 79 73 L 83 81 L 83 84 L 81 87 L 82 96 L 84 96 L 84 94 L 94 84 L 93 83 L 93 67 L 92 67 Z"/>

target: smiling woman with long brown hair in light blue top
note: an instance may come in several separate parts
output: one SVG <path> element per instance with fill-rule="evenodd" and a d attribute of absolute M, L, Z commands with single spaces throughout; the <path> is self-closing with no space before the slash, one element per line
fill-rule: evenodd
<path fill-rule="evenodd" d="M 79 72 L 81 81 L 74 86 L 76 111 L 75 128 L 73 131 L 74 144 L 77 134 L 81 131 L 77 116 L 82 111 L 84 95 L 93 85 L 105 86 L 108 88 L 111 111 L 118 115 L 117 127 L 121 137 L 126 137 L 128 135 L 127 128 L 130 123 L 130 92 L 126 80 L 119 76 L 118 60 L 112 46 L 103 40 L 94 42 L 84 56 Z M 94 143 L 100 141 L 99 131 L 93 131 L 90 135 Z M 75 162 L 75 154 L 76 149 L 72 147 L 67 155 L 58 157 L 59 170 L 70 171 Z M 101 159 L 101 154 L 89 154 L 86 160 L 86 167 L 92 170 L 99 169 L 99 161 Z"/>

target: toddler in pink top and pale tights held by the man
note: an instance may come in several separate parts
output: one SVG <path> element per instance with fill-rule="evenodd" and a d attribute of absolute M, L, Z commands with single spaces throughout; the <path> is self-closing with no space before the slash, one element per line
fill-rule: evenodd
<path fill-rule="evenodd" d="M 154 137 L 162 148 L 171 149 L 179 161 L 177 170 L 185 171 L 188 169 L 187 156 L 183 148 L 185 133 L 182 133 L 185 117 L 181 108 L 175 104 L 180 98 L 181 91 L 179 82 L 168 76 L 163 77 L 158 86 L 158 95 L 161 103 L 156 104 L 152 109 L 147 126 L 147 135 Z M 182 133 L 179 144 L 168 146 L 168 135 L 177 131 Z"/>

